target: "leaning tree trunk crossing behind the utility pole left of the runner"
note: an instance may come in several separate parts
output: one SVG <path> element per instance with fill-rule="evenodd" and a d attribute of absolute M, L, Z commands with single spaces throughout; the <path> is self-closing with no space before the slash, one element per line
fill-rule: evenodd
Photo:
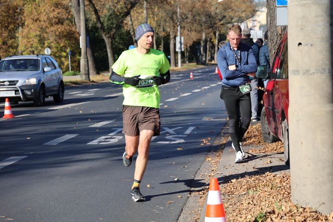
<path fill-rule="evenodd" d="M 74 21 L 76 24 L 76 30 L 78 31 L 78 33 L 81 36 L 80 0 L 71 0 L 71 1 L 72 1 L 72 11 L 74 14 Z M 88 29 L 87 29 L 87 31 L 88 31 Z M 89 32 L 87 32 L 87 36 L 89 37 Z M 88 38 L 88 39 L 90 39 L 90 38 Z M 89 45 L 89 47 L 87 48 L 87 58 L 88 58 L 89 73 L 94 75 L 94 74 L 98 73 L 98 71 L 96 69 L 95 56 L 94 56 L 94 52 L 93 52 L 90 42 L 88 43 L 88 45 Z"/>

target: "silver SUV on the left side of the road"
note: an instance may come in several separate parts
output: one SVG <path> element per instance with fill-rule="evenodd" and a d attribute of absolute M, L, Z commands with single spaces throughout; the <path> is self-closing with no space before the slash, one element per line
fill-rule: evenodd
<path fill-rule="evenodd" d="M 41 106 L 45 98 L 64 100 L 62 70 L 48 55 L 9 56 L 0 61 L 0 102 L 33 101 Z"/>

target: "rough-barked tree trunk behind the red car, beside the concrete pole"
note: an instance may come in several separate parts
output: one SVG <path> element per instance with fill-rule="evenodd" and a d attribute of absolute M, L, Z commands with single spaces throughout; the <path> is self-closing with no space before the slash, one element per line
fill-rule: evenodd
<path fill-rule="evenodd" d="M 274 58 L 277 46 L 279 45 L 284 33 L 287 31 L 287 26 L 276 25 L 276 5 L 275 1 L 266 0 L 267 5 L 267 24 L 268 24 L 268 48 L 270 64 Z"/>

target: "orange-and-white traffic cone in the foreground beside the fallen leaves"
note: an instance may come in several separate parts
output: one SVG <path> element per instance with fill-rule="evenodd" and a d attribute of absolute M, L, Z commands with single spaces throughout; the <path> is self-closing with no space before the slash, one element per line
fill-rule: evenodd
<path fill-rule="evenodd" d="M 217 178 L 211 178 L 209 185 L 205 222 L 227 222 Z"/>

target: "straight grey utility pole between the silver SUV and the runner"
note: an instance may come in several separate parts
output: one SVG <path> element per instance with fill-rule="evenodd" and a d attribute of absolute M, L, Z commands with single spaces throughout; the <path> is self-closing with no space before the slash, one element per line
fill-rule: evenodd
<path fill-rule="evenodd" d="M 81 80 L 90 81 L 88 58 L 87 58 L 87 37 L 86 37 L 86 19 L 84 10 L 84 0 L 80 0 L 80 28 L 81 28 L 81 60 L 80 76 Z"/>

